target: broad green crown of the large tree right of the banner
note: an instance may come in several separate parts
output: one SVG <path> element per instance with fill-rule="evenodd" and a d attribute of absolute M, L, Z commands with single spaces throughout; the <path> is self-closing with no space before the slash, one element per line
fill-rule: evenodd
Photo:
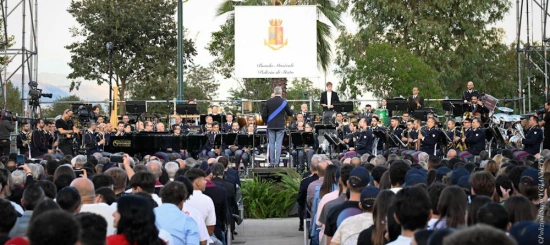
<path fill-rule="evenodd" d="M 503 87 L 514 83 L 513 63 L 504 63 L 511 62 L 513 50 L 502 43 L 503 30 L 491 27 L 508 12 L 509 1 L 350 0 L 341 2 L 341 7 L 350 11 L 359 30 L 356 34 L 342 30 L 337 40 L 339 70 L 367 59 L 364 56 L 371 45 L 387 43 L 431 66 L 439 87 L 449 97 L 458 97 L 469 80 L 478 90 L 497 97 L 508 92 L 493 90 L 495 82 Z M 386 69 L 378 68 L 377 72 Z M 355 82 L 346 81 L 352 93 L 360 93 L 353 90 Z M 424 83 L 416 85 L 422 89 Z"/>

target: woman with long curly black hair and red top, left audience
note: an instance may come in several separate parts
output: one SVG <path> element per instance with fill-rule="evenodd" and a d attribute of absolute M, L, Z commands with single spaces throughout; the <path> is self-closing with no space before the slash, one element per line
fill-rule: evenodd
<path fill-rule="evenodd" d="M 155 225 L 153 205 L 137 195 L 121 196 L 113 213 L 116 235 L 107 237 L 109 245 L 165 245 Z"/>

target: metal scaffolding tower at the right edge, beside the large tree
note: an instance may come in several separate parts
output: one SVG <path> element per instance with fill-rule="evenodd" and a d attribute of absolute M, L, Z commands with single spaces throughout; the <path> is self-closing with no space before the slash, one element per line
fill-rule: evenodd
<path fill-rule="evenodd" d="M 535 74 L 542 74 L 544 80 L 544 98 L 545 101 L 548 100 L 549 64 L 547 51 L 550 38 L 547 37 L 546 30 L 548 16 L 550 16 L 548 13 L 549 3 L 550 0 L 516 0 L 518 97 L 523 102 L 522 114 L 525 114 L 526 111 L 531 112 L 536 109 L 531 107 L 531 100 L 533 98 L 531 84 Z M 537 15 L 540 15 L 540 17 Z M 534 28 L 536 18 L 540 18 L 540 29 Z M 544 61 L 544 64 L 541 66 L 534 59 L 540 59 Z M 522 69 L 527 70 L 526 77 L 522 77 Z"/>

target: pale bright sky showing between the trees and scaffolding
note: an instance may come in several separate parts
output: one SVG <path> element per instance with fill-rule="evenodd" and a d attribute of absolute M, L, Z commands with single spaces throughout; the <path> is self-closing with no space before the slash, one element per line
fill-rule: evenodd
<path fill-rule="evenodd" d="M 507 13 L 503 21 L 496 23 L 496 27 L 504 28 L 506 31 L 504 41 L 511 43 L 516 38 L 516 1 L 509 0 L 512 3 L 511 10 Z M 38 1 L 38 70 L 39 70 L 39 82 L 42 77 L 52 77 L 55 74 L 57 79 L 45 81 L 67 89 L 70 80 L 63 79 L 64 76 L 71 72 L 71 68 L 68 66 L 70 61 L 70 53 L 64 48 L 66 45 L 74 42 L 76 39 L 71 36 L 69 28 L 76 27 L 78 23 L 74 18 L 66 11 L 70 5 L 70 0 L 55 0 L 55 1 Z M 210 41 L 210 34 L 219 30 L 219 26 L 224 23 L 226 16 L 216 17 L 215 9 L 222 3 L 223 0 L 189 0 L 184 4 L 184 26 L 188 29 L 188 36 L 195 40 L 198 48 L 198 55 L 194 58 L 195 63 L 203 66 L 208 66 L 213 60 L 206 51 L 205 47 Z M 529 1 L 531 2 L 531 1 Z M 8 12 L 15 6 L 15 1 L 9 1 L 13 6 L 8 6 Z M 532 4 L 530 4 L 532 6 Z M 524 10 L 525 11 L 525 10 Z M 538 8 L 530 10 L 533 16 L 530 21 L 530 31 L 534 40 L 541 40 L 541 12 Z M 28 20 L 29 18 L 27 18 Z M 344 16 L 344 24 L 349 31 L 356 29 L 355 23 L 350 16 Z M 522 26 L 522 40 L 526 40 L 526 25 L 525 17 Z M 19 7 L 8 17 L 8 35 L 15 37 L 16 47 L 21 47 L 22 42 L 22 9 Z M 29 23 L 27 23 L 27 31 L 29 30 Z M 28 35 L 27 35 L 28 36 Z M 337 33 L 333 33 L 336 37 Z M 26 46 L 29 46 L 26 42 Z M 333 47 L 334 48 L 334 47 Z M 174 54 L 175 55 L 175 54 Z M 14 69 L 21 63 L 21 57 L 18 57 L 14 62 L 8 66 L 8 72 L 13 72 Z M 331 67 L 331 70 L 334 66 Z M 49 74 L 49 75 L 43 75 Z M 63 76 L 61 76 L 63 75 Z M 312 79 L 314 86 L 324 89 L 324 81 L 331 81 L 338 84 L 338 77 L 335 77 L 332 72 L 327 74 L 320 73 L 319 78 Z M 61 77 L 61 79 L 59 79 Z M 225 99 L 228 96 L 227 91 L 232 87 L 238 86 L 238 81 L 234 79 L 223 80 L 220 76 L 217 76 L 220 80 L 220 89 L 218 90 L 219 98 Z M 84 98 L 90 100 L 103 100 L 108 97 L 107 85 L 97 86 L 95 84 L 89 84 L 86 86 L 86 90 L 77 92 L 77 95 L 81 95 Z M 94 95 L 89 94 L 89 89 L 97 89 L 99 93 Z M 92 98 L 90 98 L 92 97 Z M 369 97 L 368 95 L 365 97 Z M 164 98 L 163 98 L 164 99 Z"/>

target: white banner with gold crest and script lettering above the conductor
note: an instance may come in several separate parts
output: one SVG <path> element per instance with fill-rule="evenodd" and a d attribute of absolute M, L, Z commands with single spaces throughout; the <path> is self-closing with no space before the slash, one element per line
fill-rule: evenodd
<path fill-rule="evenodd" d="M 235 7 L 235 76 L 318 77 L 315 6 Z"/>

